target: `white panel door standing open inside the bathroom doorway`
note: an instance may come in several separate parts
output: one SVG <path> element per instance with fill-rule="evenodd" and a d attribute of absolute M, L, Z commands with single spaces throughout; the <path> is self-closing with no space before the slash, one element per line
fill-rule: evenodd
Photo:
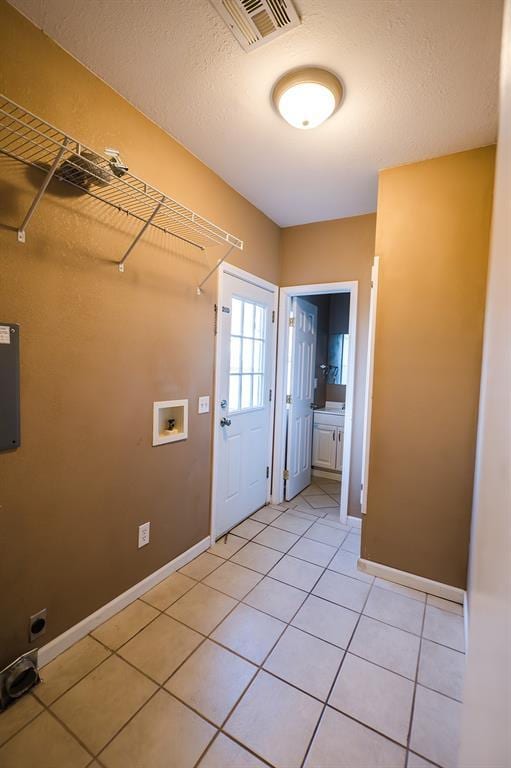
<path fill-rule="evenodd" d="M 312 403 L 318 308 L 295 297 L 290 328 L 291 352 L 288 394 L 291 397 L 287 421 L 286 500 L 294 498 L 311 481 Z"/>

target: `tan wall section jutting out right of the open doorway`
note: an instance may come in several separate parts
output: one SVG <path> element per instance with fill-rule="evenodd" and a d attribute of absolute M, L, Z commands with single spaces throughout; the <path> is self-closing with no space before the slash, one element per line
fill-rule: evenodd
<path fill-rule="evenodd" d="M 383 171 L 362 556 L 466 584 L 494 148 Z"/>

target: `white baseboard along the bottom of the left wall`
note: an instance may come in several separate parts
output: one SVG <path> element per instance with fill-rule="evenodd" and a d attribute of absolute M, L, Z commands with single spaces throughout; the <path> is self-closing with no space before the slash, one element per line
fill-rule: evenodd
<path fill-rule="evenodd" d="M 73 627 L 70 627 L 58 637 L 50 640 L 50 642 L 46 645 L 43 645 L 43 647 L 39 649 L 39 667 L 43 667 L 45 664 L 48 664 L 48 662 L 52 661 L 55 656 L 58 656 L 59 653 L 66 651 L 78 640 L 81 640 L 82 637 L 85 637 L 85 635 L 88 635 L 89 632 L 92 632 L 93 629 L 96 629 L 96 627 L 99 627 L 100 624 L 103 624 L 104 621 L 114 616 L 123 608 L 126 608 L 126 606 L 130 603 L 133 603 L 138 597 L 140 597 L 140 595 L 143 595 L 144 592 L 152 589 L 152 587 L 156 586 L 156 584 L 159 584 L 160 581 L 163 581 L 163 579 L 166 579 L 167 576 L 170 576 L 171 573 L 177 571 L 178 568 L 182 568 L 184 565 L 189 563 L 190 560 L 193 560 L 194 557 L 200 555 L 201 552 L 204 552 L 206 549 L 208 549 L 210 542 L 211 538 L 206 536 L 205 539 L 202 539 L 202 541 L 194 544 L 193 547 L 190 547 L 190 549 L 187 549 L 186 552 L 178 555 L 176 558 L 174 558 L 174 560 L 171 560 L 170 563 L 163 565 L 157 571 L 154 571 L 154 573 L 151 573 L 149 576 L 146 576 L 145 579 L 139 581 L 138 584 L 134 584 L 132 587 L 127 589 L 126 592 L 123 592 L 121 595 L 114 597 L 114 599 L 110 600 L 109 603 L 103 605 L 101 608 L 98 608 L 98 610 L 94 611 L 94 613 L 91 613 L 90 616 L 86 616 L 85 619 L 79 621 L 78 624 L 75 624 Z"/>

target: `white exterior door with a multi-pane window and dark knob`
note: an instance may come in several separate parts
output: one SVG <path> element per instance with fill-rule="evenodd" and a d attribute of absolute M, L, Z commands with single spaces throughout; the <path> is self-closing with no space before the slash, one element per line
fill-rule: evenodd
<path fill-rule="evenodd" d="M 218 307 L 216 536 L 269 498 L 274 296 L 239 277 L 228 273 L 223 277 Z"/>

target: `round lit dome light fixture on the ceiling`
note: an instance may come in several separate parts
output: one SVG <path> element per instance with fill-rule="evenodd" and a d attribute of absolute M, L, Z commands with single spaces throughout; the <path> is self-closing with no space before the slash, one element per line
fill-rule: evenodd
<path fill-rule="evenodd" d="M 339 108 L 342 83 L 321 67 L 301 67 L 283 75 L 275 83 L 272 98 L 279 114 L 290 125 L 302 130 L 316 128 Z"/>

